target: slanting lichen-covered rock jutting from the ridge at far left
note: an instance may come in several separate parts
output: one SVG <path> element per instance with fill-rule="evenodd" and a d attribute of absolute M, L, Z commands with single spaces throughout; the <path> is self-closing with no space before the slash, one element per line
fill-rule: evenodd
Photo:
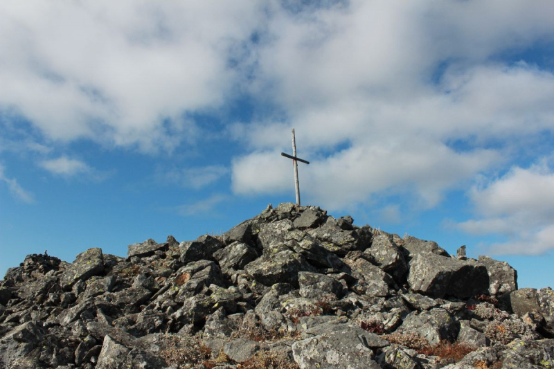
<path fill-rule="evenodd" d="M 87 280 L 104 271 L 104 258 L 102 249 L 88 249 L 80 253 L 75 261 L 60 276 L 62 289 L 69 289 L 78 280 Z"/>

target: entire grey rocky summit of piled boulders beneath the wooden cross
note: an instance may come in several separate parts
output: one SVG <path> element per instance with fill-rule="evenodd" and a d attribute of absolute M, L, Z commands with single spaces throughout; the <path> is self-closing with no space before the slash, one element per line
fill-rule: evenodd
<path fill-rule="evenodd" d="M 554 368 L 554 291 L 280 204 L 127 258 L 28 255 L 0 281 L 0 368 Z"/>

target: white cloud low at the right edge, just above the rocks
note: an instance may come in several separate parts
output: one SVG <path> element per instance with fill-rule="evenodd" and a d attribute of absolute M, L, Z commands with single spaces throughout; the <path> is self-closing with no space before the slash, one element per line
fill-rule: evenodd
<path fill-rule="evenodd" d="M 544 159 L 528 169 L 514 167 L 503 177 L 473 188 L 476 219 L 458 224 L 474 234 L 506 235 L 489 245 L 492 253 L 543 253 L 554 249 L 554 171 Z"/>

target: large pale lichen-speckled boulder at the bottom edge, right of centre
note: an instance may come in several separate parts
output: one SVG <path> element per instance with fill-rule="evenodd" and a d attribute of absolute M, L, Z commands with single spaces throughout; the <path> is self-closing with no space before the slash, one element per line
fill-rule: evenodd
<path fill-rule="evenodd" d="M 343 325 L 292 344 L 294 360 L 301 368 L 375 368 L 372 348 L 388 342 L 359 327 Z"/>

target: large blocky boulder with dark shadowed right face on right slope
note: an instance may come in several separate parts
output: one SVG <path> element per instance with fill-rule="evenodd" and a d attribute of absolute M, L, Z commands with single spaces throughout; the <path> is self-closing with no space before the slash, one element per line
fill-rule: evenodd
<path fill-rule="evenodd" d="M 483 264 L 418 253 L 410 262 L 408 283 L 420 294 L 443 298 L 469 298 L 488 292 L 489 277 Z"/>

